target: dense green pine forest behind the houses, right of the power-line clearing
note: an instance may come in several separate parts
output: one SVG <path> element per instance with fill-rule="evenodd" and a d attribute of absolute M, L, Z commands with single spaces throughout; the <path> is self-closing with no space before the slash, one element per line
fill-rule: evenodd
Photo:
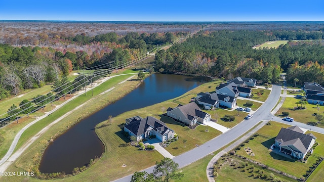
<path fill-rule="evenodd" d="M 324 83 L 323 31 L 200 31 L 155 56 L 155 70 L 224 77 L 253 77 L 276 83 L 282 71 L 290 83 Z M 279 48 L 253 49 L 271 40 L 289 40 Z M 293 41 L 299 40 L 299 41 Z M 315 74 L 314 74 L 315 73 Z"/>

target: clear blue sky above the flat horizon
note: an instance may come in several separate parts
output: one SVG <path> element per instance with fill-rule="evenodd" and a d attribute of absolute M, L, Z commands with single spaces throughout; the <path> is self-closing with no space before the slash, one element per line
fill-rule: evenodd
<path fill-rule="evenodd" d="M 324 0 L 0 0 L 0 20 L 324 21 Z"/>

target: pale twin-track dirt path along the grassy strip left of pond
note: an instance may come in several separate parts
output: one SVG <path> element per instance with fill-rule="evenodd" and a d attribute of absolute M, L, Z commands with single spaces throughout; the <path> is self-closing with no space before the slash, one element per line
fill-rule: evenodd
<path fill-rule="evenodd" d="M 104 83 L 105 81 L 107 81 L 110 78 L 116 77 L 116 76 L 121 76 L 121 75 L 128 75 L 128 74 L 137 74 L 137 73 L 127 73 L 127 74 L 120 74 L 120 75 L 114 75 L 111 77 L 107 77 L 104 79 L 99 80 L 99 83 L 94 85 L 93 87 L 97 87 L 99 86 L 101 83 Z M 133 76 L 132 76 L 133 77 Z M 126 80 L 128 80 L 129 78 L 127 78 Z M 125 81 L 126 81 L 125 80 Z M 110 89 L 111 90 L 111 89 Z M 25 127 L 23 127 L 21 130 L 18 131 L 18 133 L 15 136 L 14 141 L 12 142 L 8 152 L 6 153 L 6 155 L 0 160 L 0 171 L 6 171 L 6 169 L 33 143 L 35 142 L 35 140 L 37 140 L 43 133 L 45 133 L 52 125 L 56 124 L 57 122 L 59 122 L 60 120 L 62 120 L 64 117 L 66 117 L 67 115 L 71 114 L 73 111 L 77 110 L 78 108 L 88 104 L 89 102 L 91 102 L 93 99 L 90 99 L 89 101 L 85 102 L 82 105 L 79 105 L 78 107 L 74 108 L 73 110 L 67 112 L 66 114 L 64 114 L 63 116 L 61 116 L 60 118 L 56 119 L 55 121 L 53 121 L 52 123 L 50 123 L 49 125 L 47 125 L 46 127 L 44 127 L 41 131 L 39 131 L 37 134 L 35 134 L 30 140 L 28 140 L 20 149 L 18 149 L 13 155 L 12 153 L 14 152 L 17 143 L 22 135 L 22 133 L 29 128 L 30 126 L 32 126 L 33 124 L 35 124 L 36 122 L 38 122 L 41 119 L 44 119 L 45 117 L 47 117 L 48 115 L 52 114 L 54 111 L 58 110 L 59 108 L 61 108 L 62 106 L 64 106 L 65 104 L 67 104 L 68 102 L 72 101 L 73 99 L 75 99 L 76 97 L 84 94 L 85 91 L 79 92 L 77 95 L 75 95 L 74 97 L 72 97 L 71 99 L 67 100 L 66 102 L 62 103 L 61 105 L 57 106 L 55 109 L 53 109 L 52 111 L 46 113 L 45 115 L 37 118 L 36 120 L 32 121 L 31 123 L 27 124 Z M 1 176 L 0 176 L 1 177 Z"/>

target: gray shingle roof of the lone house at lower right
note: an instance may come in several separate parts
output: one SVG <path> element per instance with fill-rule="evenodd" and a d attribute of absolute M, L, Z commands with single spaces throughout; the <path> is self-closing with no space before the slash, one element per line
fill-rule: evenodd
<path fill-rule="evenodd" d="M 289 128 L 281 128 L 278 135 L 277 135 L 277 137 L 275 138 L 275 141 L 280 142 L 281 147 L 283 147 L 283 146 L 294 146 L 300 152 L 306 153 L 307 149 L 308 149 L 308 147 L 309 147 L 309 145 L 310 145 L 310 143 L 311 143 L 311 141 L 313 139 L 313 136 L 310 136 L 310 135 L 304 134 L 302 132 L 292 130 L 293 127 L 290 127 L 290 128 L 291 129 L 289 129 Z"/>

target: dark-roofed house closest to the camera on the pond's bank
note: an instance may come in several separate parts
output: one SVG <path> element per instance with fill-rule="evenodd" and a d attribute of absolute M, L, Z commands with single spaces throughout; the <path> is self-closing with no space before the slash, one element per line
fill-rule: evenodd
<path fill-rule="evenodd" d="M 135 116 L 126 119 L 124 131 L 128 132 L 130 135 L 136 136 L 137 141 L 155 135 L 156 139 L 164 142 L 174 138 L 175 134 L 164 122 L 151 116 L 147 116 L 146 118 Z"/>

